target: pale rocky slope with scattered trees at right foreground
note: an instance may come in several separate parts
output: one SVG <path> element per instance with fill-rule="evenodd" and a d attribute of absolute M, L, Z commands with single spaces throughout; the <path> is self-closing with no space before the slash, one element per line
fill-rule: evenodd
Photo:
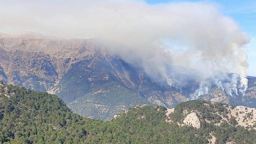
<path fill-rule="evenodd" d="M 180 126 L 191 125 L 201 128 L 202 123 L 220 126 L 228 122 L 247 129 L 256 129 L 256 108 L 230 106 L 209 101 L 189 101 L 167 109 L 167 122 L 177 122 Z"/>

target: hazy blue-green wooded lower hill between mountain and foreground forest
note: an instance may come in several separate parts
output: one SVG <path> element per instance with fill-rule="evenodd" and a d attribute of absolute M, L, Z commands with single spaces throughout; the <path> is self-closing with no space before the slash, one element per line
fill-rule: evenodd
<path fill-rule="evenodd" d="M 76 114 L 93 116 L 94 119 L 109 120 L 115 114 L 123 112 L 123 108 L 151 104 L 146 98 L 132 93 L 116 82 L 105 84 L 97 90 L 104 92 L 89 92 L 67 106 Z M 100 107 L 96 107 L 96 105 Z"/>

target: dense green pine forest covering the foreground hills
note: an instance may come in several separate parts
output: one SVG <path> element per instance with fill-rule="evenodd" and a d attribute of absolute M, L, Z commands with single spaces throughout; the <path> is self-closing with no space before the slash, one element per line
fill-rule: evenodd
<path fill-rule="evenodd" d="M 175 121 L 182 119 L 178 112 L 184 107 L 200 109 L 204 108 L 202 105 L 202 101 L 181 103 L 175 108 Z M 225 113 L 224 105 L 219 107 Z M 208 143 L 209 133 L 212 133 L 218 144 L 230 141 L 239 144 L 256 143 L 254 130 L 236 127 L 230 123 L 222 123 L 218 127 L 206 121 L 202 121 L 200 129 L 180 127 L 176 123 L 165 121 L 165 111 L 166 108 L 161 106 L 137 106 L 110 121 L 93 120 L 72 113 L 56 95 L 2 85 L 0 142 L 203 144 Z M 210 116 L 207 118 L 210 119 Z M 234 120 L 232 122 L 235 123 Z"/>

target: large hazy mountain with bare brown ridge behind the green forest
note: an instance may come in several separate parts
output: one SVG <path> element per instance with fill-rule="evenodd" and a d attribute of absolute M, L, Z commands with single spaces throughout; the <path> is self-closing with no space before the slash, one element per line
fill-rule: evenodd
<path fill-rule="evenodd" d="M 144 69 L 105 47 L 97 39 L 1 33 L 0 80 L 56 94 L 75 113 L 102 120 L 140 104 L 172 108 L 199 88 L 200 84 L 186 75 L 186 68 L 169 68 L 170 73 L 179 71 L 175 78 L 186 80 L 180 88 L 169 86 L 154 81 Z M 245 96 L 230 96 L 213 87 L 198 99 L 256 107 L 256 77 L 248 79 Z"/>

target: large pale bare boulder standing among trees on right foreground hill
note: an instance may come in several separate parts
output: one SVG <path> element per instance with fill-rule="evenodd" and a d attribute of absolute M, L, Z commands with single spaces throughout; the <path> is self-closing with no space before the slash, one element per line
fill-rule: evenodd
<path fill-rule="evenodd" d="M 188 114 L 183 122 L 187 125 L 191 125 L 194 128 L 201 128 L 200 119 L 195 112 Z"/>

